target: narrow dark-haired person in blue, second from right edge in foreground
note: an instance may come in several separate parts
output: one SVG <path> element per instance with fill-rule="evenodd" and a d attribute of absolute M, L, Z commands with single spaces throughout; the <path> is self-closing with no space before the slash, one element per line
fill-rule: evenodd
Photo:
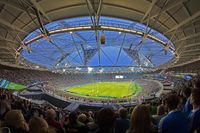
<path fill-rule="evenodd" d="M 192 105 L 190 103 L 190 94 L 191 94 L 190 88 L 184 88 L 183 89 L 183 97 L 186 98 L 186 100 L 187 100 L 185 105 L 184 105 L 184 109 L 183 109 L 183 112 L 184 112 L 186 117 L 188 117 L 188 115 L 190 114 L 190 112 L 192 110 Z"/>

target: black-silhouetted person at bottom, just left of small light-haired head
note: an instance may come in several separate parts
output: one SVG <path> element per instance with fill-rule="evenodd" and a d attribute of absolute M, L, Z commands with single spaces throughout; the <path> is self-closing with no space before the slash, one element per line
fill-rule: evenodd
<path fill-rule="evenodd" d="M 86 126 L 77 120 L 76 112 L 71 112 L 66 123 L 64 123 L 66 133 L 87 133 Z"/>

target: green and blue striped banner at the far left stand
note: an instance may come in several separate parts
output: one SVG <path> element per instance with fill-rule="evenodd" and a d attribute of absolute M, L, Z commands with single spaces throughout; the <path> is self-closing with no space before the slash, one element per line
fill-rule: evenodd
<path fill-rule="evenodd" d="M 0 88 L 18 91 L 27 88 L 27 86 L 0 79 Z"/>

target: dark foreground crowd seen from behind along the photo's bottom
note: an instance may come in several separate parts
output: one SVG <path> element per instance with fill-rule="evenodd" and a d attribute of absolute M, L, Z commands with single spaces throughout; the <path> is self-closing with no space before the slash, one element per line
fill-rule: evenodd
<path fill-rule="evenodd" d="M 200 80 L 162 95 L 153 103 L 99 111 L 64 111 L 0 91 L 1 132 L 11 133 L 199 133 Z M 157 108 L 156 113 L 153 111 Z"/>

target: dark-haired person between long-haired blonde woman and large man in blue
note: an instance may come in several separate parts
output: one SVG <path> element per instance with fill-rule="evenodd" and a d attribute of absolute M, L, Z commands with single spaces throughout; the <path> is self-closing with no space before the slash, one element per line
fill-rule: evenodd
<path fill-rule="evenodd" d="M 164 105 L 159 105 L 157 107 L 157 114 L 153 115 L 153 122 L 156 126 L 158 126 L 159 121 L 161 118 L 165 116 L 165 106 Z"/>

